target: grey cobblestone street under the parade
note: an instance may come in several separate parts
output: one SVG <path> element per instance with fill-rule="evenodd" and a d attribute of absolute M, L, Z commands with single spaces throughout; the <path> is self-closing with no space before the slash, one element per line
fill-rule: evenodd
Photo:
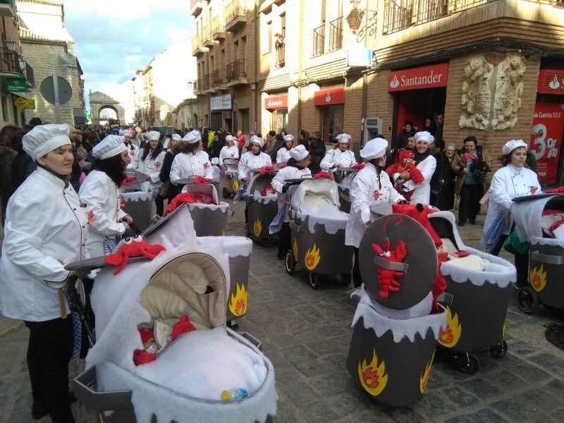
<path fill-rule="evenodd" d="M 231 202 L 231 201 L 230 201 Z M 244 221 L 243 202 L 231 223 Z M 483 218 L 482 218 L 483 219 Z M 236 225 L 233 225 L 236 226 Z M 482 226 L 461 229 L 467 245 L 479 247 Z M 226 235 L 244 235 L 228 231 Z M 477 374 L 462 374 L 436 357 L 422 400 L 404 409 L 376 405 L 345 370 L 355 306 L 336 277 L 312 289 L 305 271 L 288 276 L 275 247 L 254 245 L 249 308 L 239 330 L 262 341 L 273 362 L 278 391 L 277 422 L 563 422 L 564 351 L 544 338 L 543 324 L 563 323 L 559 314 L 522 314 L 510 301 L 505 339 L 508 354 L 494 360 L 479 354 Z M 0 320 L 1 422 L 30 422 L 30 385 L 25 364 L 27 329 Z M 74 373 L 82 368 L 71 366 Z M 73 375 L 71 375 L 73 376 Z M 77 422 L 94 422 L 92 412 L 73 407 Z M 49 421 L 48 418 L 42 421 Z"/>

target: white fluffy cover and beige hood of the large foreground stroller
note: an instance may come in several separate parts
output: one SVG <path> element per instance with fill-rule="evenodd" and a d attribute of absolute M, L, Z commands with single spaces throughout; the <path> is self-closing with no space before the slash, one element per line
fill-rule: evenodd
<path fill-rule="evenodd" d="M 223 243 L 197 243 L 186 207 L 168 220 L 147 237 L 166 251 L 115 276 L 106 266 L 94 283 L 97 340 L 87 367 L 95 366 L 97 391 L 132 391 L 138 422 L 264 422 L 276 415 L 274 368 L 225 327 L 231 272 Z M 161 329 L 185 314 L 196 330 L 171 341 Z M 140 325 L 154 327 L 160 349 L 135 366 L 133 352 L 145 348 Z M 222 391 L 238 388 L 248 397 L 221 400 Z"/>

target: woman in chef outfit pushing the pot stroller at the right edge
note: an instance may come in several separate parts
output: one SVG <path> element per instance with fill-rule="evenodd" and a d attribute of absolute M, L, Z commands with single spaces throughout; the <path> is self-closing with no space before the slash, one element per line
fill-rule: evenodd
<path fill-rule="evenodd" d="M 501 168 L 494 173 L 489 188 L 489 204 L 484 222 L 484 238 L 487 252 L 498 255 L 510 232 L 514 230 L 511 217 L 511 201 L 515 197 L 541 192 L 537 173 L 525 167 L 527 143 L 510 140 L 501 149 Z M 529 255 L 515 255 L 517 286 L 527 286 Z"/>

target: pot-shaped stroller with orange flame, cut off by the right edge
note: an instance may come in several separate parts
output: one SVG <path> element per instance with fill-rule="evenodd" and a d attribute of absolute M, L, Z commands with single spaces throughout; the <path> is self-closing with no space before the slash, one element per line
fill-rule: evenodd
<path fill-rule="evenodd" d="M 518 288 L 517 307 L 534 314 L 540 305 L 564 309 L 564 195 L 515 198 L 511 213 L 520 241 L 529 242 L 529 286 Z"/>

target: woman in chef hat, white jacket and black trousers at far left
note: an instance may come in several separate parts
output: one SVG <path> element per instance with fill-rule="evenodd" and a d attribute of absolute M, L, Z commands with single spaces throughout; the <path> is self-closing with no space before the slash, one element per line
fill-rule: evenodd
<path fill-rule="evenodd" d="M 27 371 L 32 418 L 49 415 L 72 423 L 68 362 L 73 319 L 63 290 L 83 276 L 64 264 L 87 258 L 87 218 L 68 183 L 73 165 L 68 125 L 38 125 L 23 136 L 23 149 L 37 163 L 8 202 L 0 259 L 0 309 L 30 329 Z M 90 235 L 89 235 L 90 237 Z"/>

